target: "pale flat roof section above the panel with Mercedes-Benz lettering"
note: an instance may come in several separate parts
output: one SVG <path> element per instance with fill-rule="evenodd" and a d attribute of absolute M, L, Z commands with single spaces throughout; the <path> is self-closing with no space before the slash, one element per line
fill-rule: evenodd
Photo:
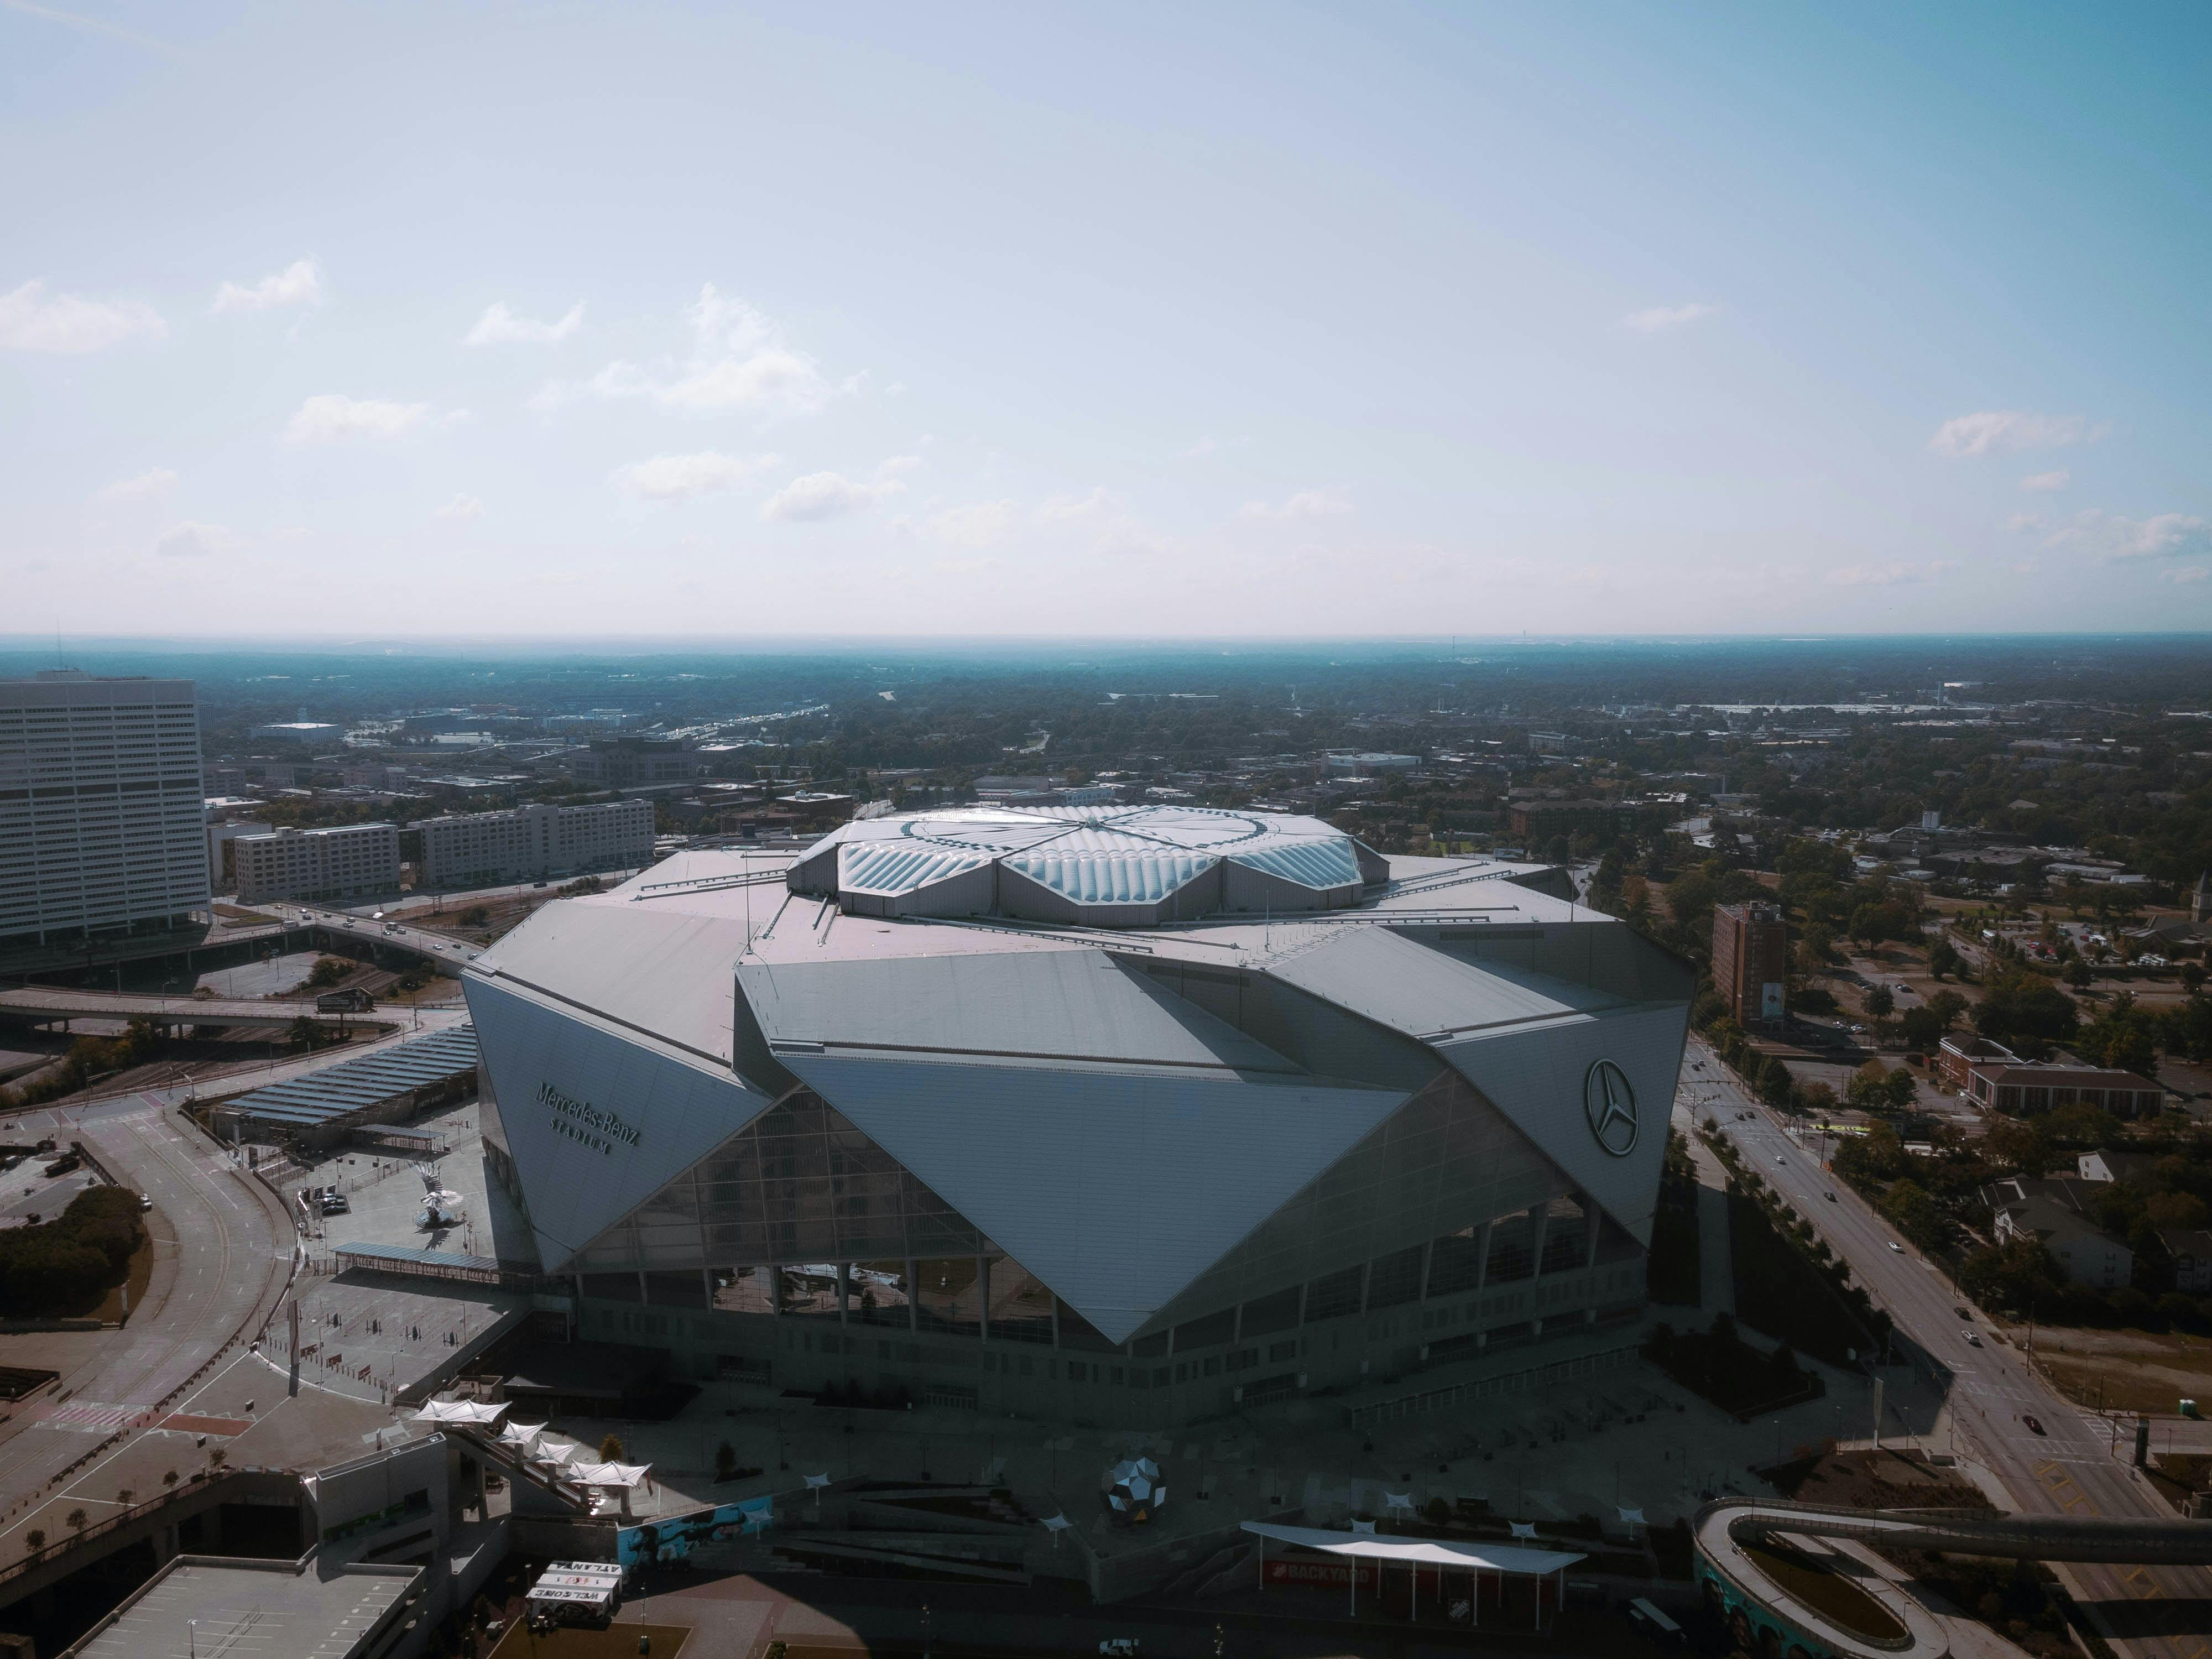
<path fill-rule="evenodd" d="M 765 925 L 783 891 L 754 896 Z M 730 1060 L 730 964 L 745 920 L 664 900 L 571 898 L 546 905 L 498 945 L 498 971 L 684 1048 Z"/>

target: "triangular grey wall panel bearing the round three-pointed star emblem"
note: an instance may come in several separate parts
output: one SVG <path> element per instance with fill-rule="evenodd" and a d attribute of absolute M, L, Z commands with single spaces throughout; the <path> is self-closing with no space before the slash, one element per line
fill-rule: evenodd
<path fill-rule="evenodd" d="M 1637 1243 L 1650 1245 L 1688 1031 L 1690 1011 L 1672 1004 L 1573 1013 L 1537 1029 L 1473 1033 L 1433 1046 Z M 1635 1141 L 1621 1157 L 1597 1135 L 1595 1119 L 1619 1104 L 1619 1091 L 1608 1095 L 1597 1075 L 1599 1062 L 1619 1066 L 1635 1097 Z M 1619 1124 L 1606 1133 L 1615 1144 L 1628 1139 Z"/>

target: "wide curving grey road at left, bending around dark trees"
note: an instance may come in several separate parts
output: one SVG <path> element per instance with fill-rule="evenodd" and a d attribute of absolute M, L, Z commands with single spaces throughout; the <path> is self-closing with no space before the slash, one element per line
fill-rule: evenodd
<path fill-rule="evenodd" d="M 0 1425 L 0 1540 L 27 1522 L 27 1500 L 55 1473 L 161 1407 L 241 1329 L 252 1336 L 276 1310 L 296 1250 L 276 1197 L 153 1099 L 49 1133 L 82 1139 L 124 1186 L 148 1194 L 146 1221 L 173 1254 L 122 1332 Z M 0 1555 L 11 1553 L 0 1542 Z"/>

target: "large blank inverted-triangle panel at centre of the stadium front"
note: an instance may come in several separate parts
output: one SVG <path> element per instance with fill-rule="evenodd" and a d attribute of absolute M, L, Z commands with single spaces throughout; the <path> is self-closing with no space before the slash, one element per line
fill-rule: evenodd
<path fill-rule="evenodd" d="M 1232 1075 L 781 1060 L 1113 1343 L 1405 1102 Z"/>

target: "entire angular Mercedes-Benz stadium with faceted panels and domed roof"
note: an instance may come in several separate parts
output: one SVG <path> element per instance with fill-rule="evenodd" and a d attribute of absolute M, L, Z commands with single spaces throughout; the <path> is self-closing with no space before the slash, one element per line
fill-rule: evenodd
<path fill-rule="evenodd" d="M 1644 1305 L 1692 971 L 1557 869 L 956 807 L 480 956 L 491 1170 L 679 1378 L 1177 1425 Z"/>

